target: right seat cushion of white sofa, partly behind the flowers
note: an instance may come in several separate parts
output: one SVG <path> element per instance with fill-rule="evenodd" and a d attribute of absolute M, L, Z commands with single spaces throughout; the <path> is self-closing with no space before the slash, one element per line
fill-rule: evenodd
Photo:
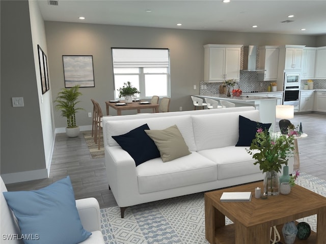
<path fill-rule="evenodd" d="M 246 147 L 226 146 L 198 152 L 218 165 L 218 179 L 227 179 L 262 172 L 247 153 Z"/>

